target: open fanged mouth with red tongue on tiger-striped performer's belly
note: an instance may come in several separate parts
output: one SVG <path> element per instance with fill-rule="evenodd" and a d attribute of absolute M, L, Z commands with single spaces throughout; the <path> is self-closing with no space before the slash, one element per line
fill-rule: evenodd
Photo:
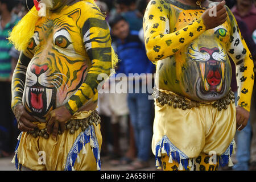
<path fill-rule="evenodd" d="M 43 117 L 53 106 L 53 89 L 43 88 L 39 86 L 27 87 L 26 104 L 38 117 Z"/>

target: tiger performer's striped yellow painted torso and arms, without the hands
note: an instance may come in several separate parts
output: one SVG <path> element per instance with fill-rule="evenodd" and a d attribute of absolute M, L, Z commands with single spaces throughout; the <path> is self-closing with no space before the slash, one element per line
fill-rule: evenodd
<path fill-rule="evenodd" d="M 65 105 L 71 114 L 96 108 L 98 75 L 110 75 L 112 47 L 108 24 L 89 2 L 65 6 L 39 18 L 13 77 L 12 107 L 44 122 L 49 111 Z M 26 77 L 26 81 L 25 81 Z"/>

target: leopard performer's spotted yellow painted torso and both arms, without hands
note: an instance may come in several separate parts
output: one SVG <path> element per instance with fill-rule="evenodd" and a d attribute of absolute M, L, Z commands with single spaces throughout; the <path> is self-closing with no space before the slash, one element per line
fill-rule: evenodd
<path fill-rule="evenodd" d="M 190 100 L 210 102 L 225 97 L 236 64 L 238 105 L 250 111 L 253 90 L 253 60 L 236 19 L 226 7 L 228 19 L 205 30 L 198 6 L 175 0 L 151 0 L 143 20 L 148 58 L 157 65 L 159 89 Z"/>

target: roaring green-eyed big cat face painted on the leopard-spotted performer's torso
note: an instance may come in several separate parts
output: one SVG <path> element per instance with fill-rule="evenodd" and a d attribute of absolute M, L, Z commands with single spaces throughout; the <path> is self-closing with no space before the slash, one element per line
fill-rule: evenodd
<path fill-rule="evenodd" d="M 195 19 L 195 14 L 200 17 L 202 13 L 198 10 L 184 10 L 174 30 L 180 30 Z M 205 31 L 175 55 L 159 60 L 159 88 L 200 102 L 224 97 L 229 91 L 232 73 L 226 53 L 226 44 L 230 39 L 228 30 L 229 24 L 226 22 Z"/>

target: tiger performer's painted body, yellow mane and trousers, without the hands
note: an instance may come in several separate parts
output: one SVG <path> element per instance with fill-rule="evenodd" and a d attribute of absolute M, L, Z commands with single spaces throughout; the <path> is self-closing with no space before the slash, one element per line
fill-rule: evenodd
<path fill-rule="evenodd" d="M 108 24 L 91 0 L 40 3 L 46 11 L 33 7 L 9 38 L 22 51 L 13 76 L 12 107 L 23 104 L 38 119 L 38 129 L 20 134 L 13 162 L 17 169 L 100 169 L 98 76 L 110 75 L 117 60 Z M 36 9 L 45 16 L 39 17 Z M 47 134 L 46 115 L 62 105 L 73 117 L 54 139 Z"/>

